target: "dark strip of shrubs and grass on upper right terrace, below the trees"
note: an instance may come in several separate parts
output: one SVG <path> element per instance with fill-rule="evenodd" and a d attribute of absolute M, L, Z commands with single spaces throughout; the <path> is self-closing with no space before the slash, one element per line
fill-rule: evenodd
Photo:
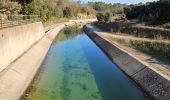
<path fill-rule="evenodd" d="M 163 25 L 162 27 L 150 27 L 143 25 L 132 26 L 130 23 L 122 22 L 112 22 L 112 23 L 94 23 L 94 25 L 103 31 L 110 32 L 121 32 L 128 35 L 133 35 L 140 38 L 149 39 L 170 39 L 170 24 Z"/>

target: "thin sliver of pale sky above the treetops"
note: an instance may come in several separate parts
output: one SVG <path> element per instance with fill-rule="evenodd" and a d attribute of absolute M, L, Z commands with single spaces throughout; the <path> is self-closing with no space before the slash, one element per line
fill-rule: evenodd
<path fill-rule="evenodd" d="M 83 2 L 88 2 L 88 1 L 102 1 L 102 2 L 107 2 L 107 3 L 126 3 L 126 4 L 135 4 L 135 3 L 139 3 L 139 2 L 152 2 L 152 1 L 156 1 L 156 0 L 81 0 Z"/>

